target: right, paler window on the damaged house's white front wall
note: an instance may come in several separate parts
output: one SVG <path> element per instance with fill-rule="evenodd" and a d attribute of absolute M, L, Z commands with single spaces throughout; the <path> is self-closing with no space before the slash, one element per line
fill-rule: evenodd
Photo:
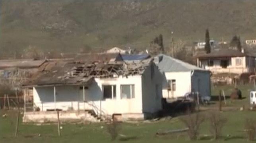
<path fill-rule="evenodd" d="M 134 85 L 121 85 L 121 99 L 132 99 L 134 95 Z"/>

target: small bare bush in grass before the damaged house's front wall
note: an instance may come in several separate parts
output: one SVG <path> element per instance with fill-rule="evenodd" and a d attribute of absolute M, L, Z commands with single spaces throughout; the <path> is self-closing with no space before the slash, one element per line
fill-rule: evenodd
<path fill-rule="evenodd" d="M 120 131 L 120 123 L 113 120 L 110 124 L 107 124 L 107 132 L 111 135 L 112 141 L 116 139 L 118 136 L 118 132 Z"/>

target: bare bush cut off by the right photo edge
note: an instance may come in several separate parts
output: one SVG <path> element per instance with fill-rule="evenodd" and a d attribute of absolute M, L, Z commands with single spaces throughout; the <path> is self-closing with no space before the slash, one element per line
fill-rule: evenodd
<path fill-rule="evenodd" d="M 244 124 L 244 131 L 247 135 L 247 139 L 249 141 L 253 141 L 255 139 L 256 134 L 256 124 L 253 119 L 246 119 Z"/>

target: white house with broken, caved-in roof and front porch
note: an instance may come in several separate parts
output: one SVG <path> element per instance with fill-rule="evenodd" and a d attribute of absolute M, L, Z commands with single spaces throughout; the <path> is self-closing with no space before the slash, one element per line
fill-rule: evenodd
<path fill-rule="evenodd" d="M 150 59 L 55 62 L 23 86 L 33 87 L 34 108 L 25 112 L 23 122 L 45 120 L 56 110 L 62 111 L 60 118 L 79 110 L 84 120 L 94 116 L 98 121 L 112 116 L 145 119 L 162 109 L 161 73 Z"/>

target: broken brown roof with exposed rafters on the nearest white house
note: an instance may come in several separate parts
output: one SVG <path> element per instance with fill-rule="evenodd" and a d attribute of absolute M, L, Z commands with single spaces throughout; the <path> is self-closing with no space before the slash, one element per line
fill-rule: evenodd
<path fill-rule="evenodd" d="M 141 75 L 151 59 L 139 62 L 77 62 L 57 61 L 40 68 L 23 86 L 89 85 L 93 78 Z"/>

